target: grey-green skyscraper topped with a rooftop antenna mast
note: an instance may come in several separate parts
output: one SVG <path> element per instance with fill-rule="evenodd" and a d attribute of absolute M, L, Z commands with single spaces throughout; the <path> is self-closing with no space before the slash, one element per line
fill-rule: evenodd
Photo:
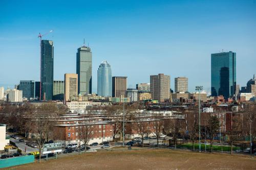
<path fill-rule="evenodd" d="M 76 74 L 78 75 L 78 93 L 92 93 L 92 52 L 88 46 L 81 46 L 76 53 Z"/>

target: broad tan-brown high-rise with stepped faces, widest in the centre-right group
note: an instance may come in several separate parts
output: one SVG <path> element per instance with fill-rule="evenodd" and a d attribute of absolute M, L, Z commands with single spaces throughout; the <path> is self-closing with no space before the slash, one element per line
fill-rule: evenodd
<path fill-rule="evenodd" d="M 170 76 L 164 74 L 150 76 L 150 93 L 152 99 L 159 102 L 170 99 Z"/>

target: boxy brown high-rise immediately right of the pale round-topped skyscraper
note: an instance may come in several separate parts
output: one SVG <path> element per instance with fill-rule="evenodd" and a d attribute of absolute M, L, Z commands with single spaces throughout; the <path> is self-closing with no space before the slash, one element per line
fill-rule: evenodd
<path fill-rule="evenodd" d="M 112 77 L 112 97 L 119 98 L 123 95 L 126 98 L 127 77 Z"/>

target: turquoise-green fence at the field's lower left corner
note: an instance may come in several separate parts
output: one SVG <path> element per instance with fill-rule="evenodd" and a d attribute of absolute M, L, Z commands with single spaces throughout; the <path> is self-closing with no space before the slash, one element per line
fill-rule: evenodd
<path fill-rule="evenodd" d="M 0 159 L 0 168 L 33 163 L 34 155 L 18 156 L 14 158 Z"/>

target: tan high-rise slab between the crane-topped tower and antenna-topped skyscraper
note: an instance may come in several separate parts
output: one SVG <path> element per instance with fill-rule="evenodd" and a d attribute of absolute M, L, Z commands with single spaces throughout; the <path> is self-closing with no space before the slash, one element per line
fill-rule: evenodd
<path fill-rule="evenodd" d="M 72 101 L 78 95 L 78 75 L 65 74 L 65 101 Z"/>

